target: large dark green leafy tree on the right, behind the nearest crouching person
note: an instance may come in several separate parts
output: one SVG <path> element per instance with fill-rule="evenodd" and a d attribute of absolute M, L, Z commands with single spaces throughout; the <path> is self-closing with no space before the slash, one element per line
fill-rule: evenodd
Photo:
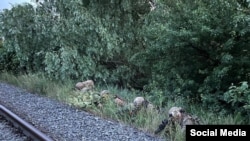
<path fill-rule="evenodd" d="M 237 1 L 164 1 L 146 21 L 138 59 L 168 96 L 221 105 L 231 83 L 249 81 L 249 10 Z"/>

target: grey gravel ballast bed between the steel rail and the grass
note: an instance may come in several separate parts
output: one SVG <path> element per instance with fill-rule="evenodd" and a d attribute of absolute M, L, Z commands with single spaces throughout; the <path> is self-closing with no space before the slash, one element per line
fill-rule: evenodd
<path fill-rule="evenodd" d="M 5 83 L 0 83 L 0 104 L 57 141 L 163 141 Z"/>

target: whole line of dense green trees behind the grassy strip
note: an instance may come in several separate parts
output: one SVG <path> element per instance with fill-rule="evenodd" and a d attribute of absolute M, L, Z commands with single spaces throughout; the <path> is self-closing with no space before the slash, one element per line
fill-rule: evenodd
<path fill-rule="evenodd" d="M 248 0 L 47 0 L 0 15 L 0 69 L 250 115 Z M 230 88 L 230 89 L 229 89 Z"/>

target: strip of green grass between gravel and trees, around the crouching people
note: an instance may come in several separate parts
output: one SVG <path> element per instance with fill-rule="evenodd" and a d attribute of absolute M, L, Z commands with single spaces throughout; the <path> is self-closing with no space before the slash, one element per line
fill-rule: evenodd
<path fill-rule="evenodd" d="M 188 112 L 197 115 L 201 119 L 203 124 L 241 124 L 242 121 L 240 116 L 238 115 L 218 115 L 217 113 L 205 111 L 200 106 L 188 105 L 181 98 L 178 98 L 174 101 L 168 101 L 167 104 L 163 108 L 161 108 L 160 112 L 156 110 L 141 110 L 134 117 L 131 117 L 124 112 L 122 112 L 122 114 L 118 114 L 119 110 L 121 109 L 114 104 L 112 99 L 107 100 L 103 105 L 103 108 L 98 108 L 93 105 L 86 106 L 85 108 L 83 108 L 83 106 L 79 106 L 79 99 L 81 100 L 83 97 L 73 89 L 75 84 L 71 81 L 64 82 L 62 84 L 50 81 L 46 79 L 42 74 L 14 76 L 9 73 L 1 73 L 0 80 L 2 82 L 6 82 L 26 89 L 31 93 L 37 93 L 53 99 L 57 99 L 61 102 L 76 106 L 79 109 L 88 111 L 102 118 L 119 121 L 121 123 L 134 126 L 149 133 L 153 133 L 161 123 L 161 121 L 168 116 L 166 111 L 172 106 L 181 106 L 185 107 L 185 109 L 189 109 Z M 136 90 L 131 91 L 127 89 L 119 89 L 117 87 L 108 85 L 96 86 L 94 90 L 96 92 L 109 90 L 111 95 L 117 94 L 128 102 L 132 102 L 133 98 L 136 96 L 144 96 L 149 100 L 151 98 L 149 95 L 143 94 Z M 76 101 L 72 101 L 72 98 L 74 97 L 77 97 L 77 99 L 75 99 Z M 161 100 L 162 99 L 159 98 L 157 101 L 154 100 L 151 102 L 155 104 L 159 103 L 159 101 Z M 159 136 L 165 137 L 164 132 L 160 133 Z M 168 139 L 170 139 L 171 141 L 185 140 L 183 133 L 179 129 L 177 129 L 176 133 L 171 134 Z"/>

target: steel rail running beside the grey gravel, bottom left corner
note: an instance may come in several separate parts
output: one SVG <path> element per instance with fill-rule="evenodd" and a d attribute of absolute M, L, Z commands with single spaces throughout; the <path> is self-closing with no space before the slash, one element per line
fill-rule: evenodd
<path fill-rule="evenodd" d="M 15 113 L 8 110 L 3 105 L 0 105 L 0 115 L 4 116 L 15 127 L 21 128 L 23 133 L 35 141 L 53 141 L 50 137 L 36 129 L 34 126 L 18 117 Z"/>

